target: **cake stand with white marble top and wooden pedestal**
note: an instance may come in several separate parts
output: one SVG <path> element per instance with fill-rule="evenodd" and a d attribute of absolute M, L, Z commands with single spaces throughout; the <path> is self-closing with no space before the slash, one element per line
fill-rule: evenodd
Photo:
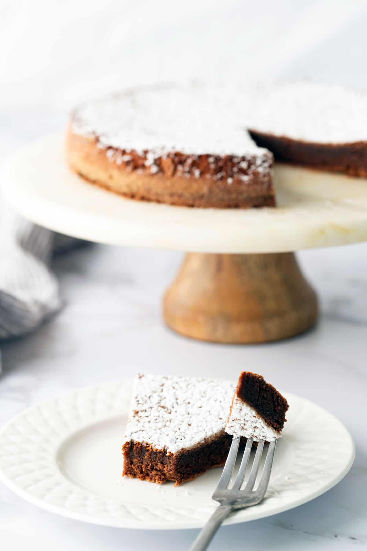
<path fill-rule="evenodd" d="M 4 166 L 3 196 L 25 218 L 106 244 L 190 251 L 163 301 L 165 321 L 206 341 L 273 341 L 317 318 L 292 251 L 367 240 L 367 181 L 278 165 L 278 207 L 173 207 L 124 199 L 65 164 L 63 137 L 28 145 Z"/>

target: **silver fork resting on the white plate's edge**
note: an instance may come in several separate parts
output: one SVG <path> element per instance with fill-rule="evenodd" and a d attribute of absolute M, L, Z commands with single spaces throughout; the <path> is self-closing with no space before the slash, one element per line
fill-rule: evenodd
<path fill-rule="evenodd" d="M 256 490 L 254 490 L 254 485 L 259 471 L 262 451 L 264 450 L 264 440 L 260 440 L 258 444 L 258 449 L 255 453 L 250 476 L 244 489 L 241 490 L 250 458 L 251 447 L 253 445 L 252 438 L 249 438 L 246 442 L 245 451 L 243 452 L 243 457 L 237 477 L 234 480 L 233 486 L 228 489 L 228 485 L 231 481 L 231 476 L 234 469 L 234 464 L 237 459 L 239 441 L 239 436 L 233 437 L 231 449 L 229 450 L 227 461 L 223 468 L 222 476 L 215 492 L 212 495 L 212 499 L 218 501 L 218 503 L 220 503 L 220 506 L 217 507 L 212 516 L 209 518 L 209 521 L 207 521 L 204 528 L 202 528 L 199 536 L 195 539 L 193 545 L 191 545 L 190 551 L 205 551 L 205 549 L 207 549 L 209 543 L 211 542 L 212 537 L 221 526 L 224 518 L 227 518 L 227 516 L 231 511 L 233 511 L 233 509 L 243 509 L 243 507 L 252 507 L 253 505 L 258 505 L 258 503 L 260 503 L 260 501 L 262 501 L 262 499 L 264 498 L 267 485 L 269 484 L 276 440 L 273 440 L 269 444 L 269 448 L 267 450 L 265 458 L 264 470 L 262 471 L 260 482 Z"/>

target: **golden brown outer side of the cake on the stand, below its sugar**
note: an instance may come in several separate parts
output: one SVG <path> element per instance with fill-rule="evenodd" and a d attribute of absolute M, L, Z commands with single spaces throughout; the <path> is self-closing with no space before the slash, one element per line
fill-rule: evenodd
<path fill-rule="evenodd" d="M 275 206 L 272 155 L 167 153 L 155 160 L 149 151 L 101 147 L 98 136 L 82 136 L 69 126 L 66 154 L 70 167 L 85 180 L 124 197 L 188 207 L 250 208 Z"/>

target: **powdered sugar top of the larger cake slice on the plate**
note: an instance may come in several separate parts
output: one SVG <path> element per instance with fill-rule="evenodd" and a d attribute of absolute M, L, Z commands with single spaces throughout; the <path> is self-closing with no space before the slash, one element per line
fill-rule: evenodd
<path fill-rule="evenodd" d="M 125 442 L 177 453 L 223 433 L 235 385 L 227 381 L 139 375 Z"/>

